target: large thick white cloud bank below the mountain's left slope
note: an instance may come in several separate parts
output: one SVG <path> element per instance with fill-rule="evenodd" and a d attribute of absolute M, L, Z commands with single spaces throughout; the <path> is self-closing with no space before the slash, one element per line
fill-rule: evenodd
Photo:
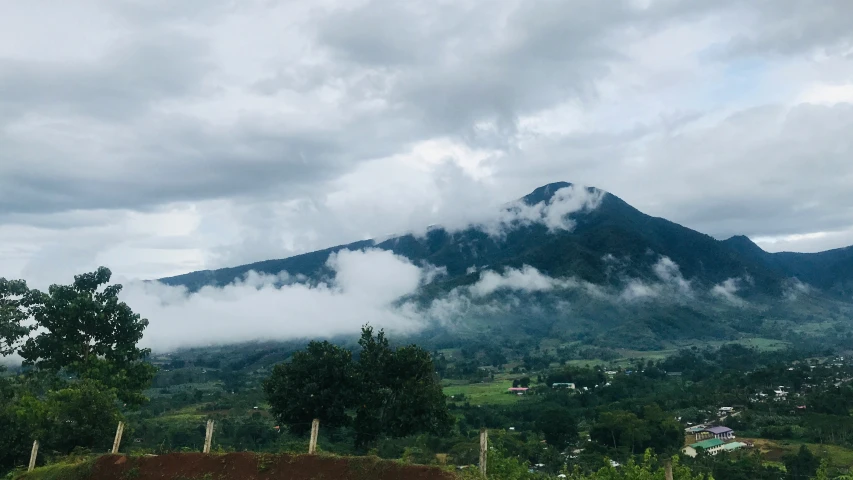
<path fill-rule="evenodd" d="M 157 350 L 347 335 L 365 323 L 403 333 L 424 325 L 411 305 L 395 306 L 421 284 L 423 269 L 379 250 L 342 251 L 329 266 L 334 279 L 319 285 L 292 283 L 286 274 L 250 274 L 194 294 L 160 283 L 128 284 L 122 300 L 149 320 L 142 343 Z"/>

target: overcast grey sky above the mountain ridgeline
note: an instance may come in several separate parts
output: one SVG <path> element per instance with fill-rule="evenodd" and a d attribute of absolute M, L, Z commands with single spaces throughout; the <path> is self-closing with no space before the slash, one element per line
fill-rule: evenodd
<path fill-rule="evenodd" d="M 0 276 L 156 278 L 554 181 L 853 244 L 849 0 L 0 6 Z"/>

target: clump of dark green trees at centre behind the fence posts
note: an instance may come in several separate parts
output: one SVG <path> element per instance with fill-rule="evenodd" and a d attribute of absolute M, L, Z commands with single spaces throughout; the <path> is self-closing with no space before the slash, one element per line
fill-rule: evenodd
<path fill-rule="evenodd" d="M 311 342 L 277 365 L 264 383 L 273 413 L 291 431 L 312 418 L 327 426 L 352 425 L 356 443 L 382 436 L 446 433 L 453 424 L 429 352 L 392 348 L 380 331 L 365 326 L 358 361 L 328 342 Z"/>

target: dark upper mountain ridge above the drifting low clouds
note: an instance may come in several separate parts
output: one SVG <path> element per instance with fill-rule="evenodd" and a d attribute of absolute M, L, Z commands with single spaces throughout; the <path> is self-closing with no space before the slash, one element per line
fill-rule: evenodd
<path fill-rule="evenodd" d="M 750 293 L 779 295 L 786 281 L 796 278 L 834 295 L 853 292 L 853 247 L 818 253 L 766 252 L 752 240 L 736 235 L 726 240 L 641 212 L 621 198 L 594 187 L 554 182 L 534 189 L 505 209 L 548 206 L 558 192 L 576 189 L 575 195 L 599 195 L 595 208 L 569 215 L 571 230 L 552 231 L 541 223 L 516 222 L 501 238 L 471 225 L 448 231 L 432 226 L 423 235 L 407 233 L 381 242 L 362 240 L 307 252 L 216 270 L 201 270 L 159 279 L 196 291 L 204 286 L 225 286 L 249 271 L 320 278 L 331 274 L 326 262 L 341 250 L 379 248 L 417 263 L 428 262 L 448 271 L 451 280 L 465 277 L 471 268 L 520 268 L 531 265 L 551 276 L 576 276 L 605 284 L 605 258 L 627 258 L 625 275 L 648 276 L 657 256 L 675 262 L 687 279 L 716 285 L 727 279 L 749 277 Z M 445 280 L 447 281 L 447 280 Z M 456 282 L 458 283 L 458 282 Z"/>

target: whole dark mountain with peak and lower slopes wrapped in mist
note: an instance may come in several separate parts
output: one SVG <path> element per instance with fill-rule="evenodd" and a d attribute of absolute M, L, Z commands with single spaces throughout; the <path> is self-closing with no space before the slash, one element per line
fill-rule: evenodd
<path fill-rule="evenodd" d="M 460 328 L 634 348 L 696 338 L 778 336 L 817 319 L 822 328 L 849 323 L 853 315 L 853 247 L 768 253 L 745 236 L 719 241 L 646 215 L 610 193 L 566 182 L 539 187 L 498 213 L 499 221 L 489 225 L 432 227 L 421 235 L 361 241 L 160 281 L 190 291 L 227 285 L 249 271 L 286 271 L 316 281 L 333 275 L 326 262 L 334 252 L 378 248 L 446 269 L 446 275 L 416 295 L 428 308 L 432 300 L 476 283 L 484 271 L 531 266 L 604 293 L 503 293 L 512 301 L 505 299 L 497 310 L 467 311 L 467 323 Z M 500 301 L 497 297 L 488 301 Z M 637 297 L 653 301 L 623 301 Z"/>

